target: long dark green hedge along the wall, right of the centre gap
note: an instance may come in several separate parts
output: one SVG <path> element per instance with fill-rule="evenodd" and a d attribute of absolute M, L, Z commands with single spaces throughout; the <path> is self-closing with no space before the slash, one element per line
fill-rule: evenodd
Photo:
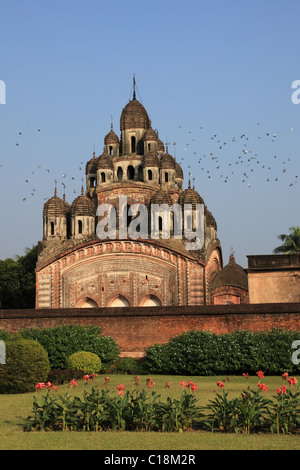
<path fill-rule="evenodd" d="M 269 375 L 299 374 L 293 364 L 292 344 L 300 332 L 274 329 L 269 332 L 236 331 L 217 335 L 189 331 L 145 352 L 148 373 L 178 375 L 240 375 L 262 369 Z"/>

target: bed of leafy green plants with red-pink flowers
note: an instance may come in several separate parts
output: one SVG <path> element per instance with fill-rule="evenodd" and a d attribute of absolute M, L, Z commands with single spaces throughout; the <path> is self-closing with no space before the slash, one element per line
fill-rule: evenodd
<path fill-rule="evenodd" d="M 247 382 L 249 375 L 243 375 Z M 96 374 L 86 374 L 82 397 L 72 393 L 78 385 L 75 379 L 70 381 L 63 394 L 59 394 L 57 385 L 39 383 L 24 430 L 298 432 L 300 392 L 296 379 L 282 374 L 282 385 L 269 399 L 265 396 L 268 387 L 262 382 L 264 373 L 258 371 L 257 376 L 256 390 L 247 386 L 233 399 L 229 399 L 226 389 L 229 379 L 219 380 L 216 397 L 206 406 L 198 405 L 195 392 L 199 392 L 200 387 L 191 380 L 179 382 L 182 388 L 179 399 L 168 396 L 164 401 L 150 377 L 142 384 L 140 377 L 135 376 L 132 390 L 126 390 L 122 383 L 116 390 L 110 390 L 109 377 L 96 386 Z M 166 382 L 165 389 L 169 390 L 170 386 L 171 383 Z"/>

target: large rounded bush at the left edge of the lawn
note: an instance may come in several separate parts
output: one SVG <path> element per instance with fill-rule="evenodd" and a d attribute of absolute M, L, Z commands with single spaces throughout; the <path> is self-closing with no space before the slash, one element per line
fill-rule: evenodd
<path fill-rule="evenodd" d="M 17 337 L 5 342 L 6 364 L 0 365 L 0 393 L 32 392 L 47 379 L 50 362 L 36 341 Z"/>

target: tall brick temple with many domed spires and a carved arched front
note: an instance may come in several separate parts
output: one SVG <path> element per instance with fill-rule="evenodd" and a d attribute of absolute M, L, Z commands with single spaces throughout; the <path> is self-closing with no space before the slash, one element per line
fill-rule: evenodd
<path fill-rule="evenodd" d="M 183 189 L 182 168 L 152 129 L 135 88 L 122 110 L 120 130 L 119 138 L 111 126 L 103 153 L 87 162 L 86 190 L 72 204 L 55 189 L 44 205 L 36 308 L 212 303 L 211 281 L 222 269 L 216 221 L 190 181 Z M 99 215 L 103 204 L 111 209 Z M 152 232 L 154 204 L 161 212 Z M 174 205 L 181 210 L 182 237 L 175 233 Z M 148 214 L 146 230 L 140 224 L 138 237 L 121 236 L 141 215 L 141 206 Z M 198 233 L 200 206 L 203 243 L 195 250 L 187 245 L 185 229 Z M 128 212 L 134 207 L 140 212 Z M 99 225 L 107 221 L 105 230 L 110 228 L 108 213 L 114 211 L 115 236 L 99 237 Z"/>

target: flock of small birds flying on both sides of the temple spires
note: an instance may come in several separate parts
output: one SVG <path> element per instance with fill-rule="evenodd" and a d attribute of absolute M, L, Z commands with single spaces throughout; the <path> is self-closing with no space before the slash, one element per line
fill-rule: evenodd
<path fill-rule="evenodd" d="M 260 126 L 260 123 L 257 123 L 257 126 Z M 182 130 L 183 126 L 179 125 L 179 129 Z M 40 132 L 40 129 L 37 130 Z M 267 160 L 268 162 L 264 162 L 266 159 L 266 156 L 264 155 L 263 157 L 260 156 L 257 150 L 253 150 L 251 148 L 250 142 L 251 138 L 247 136 L 246 134 L 241 134 L 236 137 L 231 137 L 230 140 L 224 141 L 224 139 L 221 139 L 217 134 L 212 134 L 212 135 L 207 135 L 208 142 L 206 143 L 206 147 L 209 148 L 209 150 L 213 150 L 211 152 L 207 152 L 206 154 L 199 154 L 199 146 L 202 148 L 204 147 L 205 143 L 203 140 L 203 133 L 204 133 L 204 127 L 200 127 L 200 135 L 196 136 L 197 139 L 192 138 L 193 132 L 192 131 L 187 131 L 188 135 L 190 137 L 189 142 L 186 142 L 183 148 L 180 149 L 181 156 L 179 163 L 181 164 L 182 167 L 186 166 L 189 169 L 189 176 L 191 177 L 192 173 L 197 174 L 197 179 L 200 174 L 200 179 L 203 177 L 203 174 L 206 174 L 206 177 L 208 179 L 217 176 L 218 178 L 221 178 L 224 183 L 228 183 L 229 179 L 232 179 L 233 176 L 238 175 L 239 180 L 245 184 L 248 188 L 251 187 L 251 176 L 257 172 L 258 169 L 264 170 L 266 172 L 265 174 L 265 181 L 266 182 L 271 182 L 271 181 L 279 181 L 282 175 L 287 173 L 289 176 L 289 181 L 287 182 L 288 186 L 291 187 L 295 184 L 298 183 L 298 175 L 297 174 L 289 174 L 289 165 L 291 163 L 291 158 L 279 158 L 277 154 L 274 154 L 274 149 L 273 149 L 273 154 L 272 157 L 268 157 Z M 293 128 L 289 129 L 289 132 L 292 132 Z M 181 131 L 179 131 L 181 132 Z M 184 132 L 184 129 L 182 130 Z M 277 134 L 275 132 L 262 132 L 262 135 L 257 136 L 257 139 L 261 141 L 264 137 L 269 140 L 270 144 L 273 144 L 277 140 Z M 19 132 L 19 136 L 22 135 L 22 132 Z M 183 139 L 184 136 L 180 136 L 181 139 Z M 194 143 L 197 142 L 198 138 L 199 143 Z M 234 145 L 235 147 L 230 148 L 230 144 Z M 239 146 L 240 144 L 240 146 Z M 167 142 L 166 145 L 170 145 L 170 142 Z M 16 143 L 16 146 L 19 147 L 19 142 Z M 176 157 L 177 153 L 177 148 L 178 145 L 176 142 L 173 143 L 173 148 L 174 148 L 174 153 L 173 156 Z M 230 148 L 230 149 L 229 149 Z M 195 150 L 196 149 L 196 150 Z M 227 152 L 228 149 L 228 152 Z M 288 149 L 287 149 L 288 150 Z M 265 151 L 265 149 L 263 150 Z M 228 155 L 230 156 L 230 159 L 228 161 Z M 236 156 L 235 158 L 232 158 L 233 156 Z M 276 170 L 273 167 L 273 164 L 270 163 L 270 159 L 273 159 L 274 162 L 276 161 L 277 167 Z M 281 168 L 279 168 L 281 166 Z M 195 166 L 194 164 L 197 163 L 200 165 L 200 171 L 199 169 L 196 169 L 194 172 L 191 171 L 191 165 L 192 168 L 194 169 Z M 255 164 L 255 165 L 254 165 Z M 3 164 L 0 164 L 0 168 L 3 167 Z M 30 183 L 33 183 L 34 177 L 33 175 L 36 174 L 37 171 L 43 170 L 41 165 L 37 165 L 36 169 L 34 171 L 31 171 L 31 176 L 28 176 L 25 179 L 25 183 L 27 185 L 30 185 Z M 78 165 L 78 170 L 81 175 L 81 185 L 83 186 L 83 181 L 84 181 L 84 171 L 85 171 L 85 163 L 80 162 L 80 165 Z M 50 168 L 46 168 L 45 171 L 50 174 L 51 173 L 51 178 L 52 178 L 52 173 L 53 170 L 50 170 Z M 276 171 L 276 174 L 274 174 L 274 171 Z M 55 170 L 57 172 L 57 170 Z M 203 173 L 204 172 L 204 173 Z M 281 175 L 279 174 L 281 173 Z M 62 173 L 61 174 L 61 185 L 63 186 L 63 191 L 65 193 L 66 190 L 66 178 L 68 178 L 67 173 Z M 75 182 L 76 184 L 77 177 L 71 176 L 70 177 L 70 182 Z M 195 178 L 193 178 L 195 180 Z M 55 182 L 55 186 L 57 185 L 57 179 L 55 179 L 52 182 Z M 68 182 L 69 184 L 69 182 Z M 27 196 L 22 197 L 22 201 L 26 201 L 30 196 L 34 196 L 37 192 L 37 189 L 33 187 L 31 190 L 29 190 L 29 194 Z M 73 193 L 76 194 L 77 190 L 73 189 Z M 29 196 L 30 195 L 30 196 Z M 48 200 L 49 197 L 43 197 L 44 200 Z"/>

